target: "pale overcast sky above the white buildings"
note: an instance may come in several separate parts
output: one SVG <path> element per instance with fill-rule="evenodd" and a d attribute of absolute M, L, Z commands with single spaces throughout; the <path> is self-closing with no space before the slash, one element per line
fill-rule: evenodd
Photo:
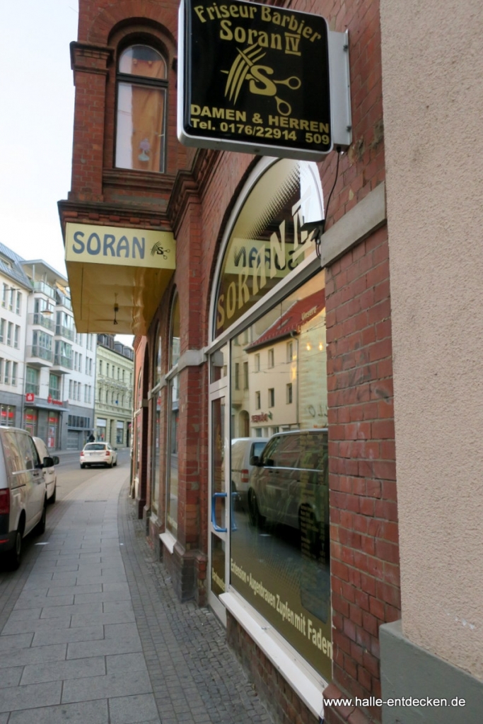
<path fill-rule="evenodd" d="M 0 241 L 67 275 L 57 201 L 70 190 L 78 3 L 1 6 Z"/>

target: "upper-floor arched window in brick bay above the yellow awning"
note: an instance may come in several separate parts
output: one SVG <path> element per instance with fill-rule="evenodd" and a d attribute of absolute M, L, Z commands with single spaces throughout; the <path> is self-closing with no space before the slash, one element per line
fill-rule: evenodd
<path fill-rule="evenodd" d="M 167 67 L 146 45 L 122 51 L 117 69 L 116 166 L 164 171 Z"/>

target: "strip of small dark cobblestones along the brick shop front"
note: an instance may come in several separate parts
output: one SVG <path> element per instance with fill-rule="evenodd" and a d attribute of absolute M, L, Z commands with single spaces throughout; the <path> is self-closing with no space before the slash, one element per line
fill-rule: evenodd
<path fill-rule="evenodd" d="M 207 608 L 180 603 L 154 559 L 127 487 L 119 540 L 144 656 L 162 724 L 273 724 Z"/>

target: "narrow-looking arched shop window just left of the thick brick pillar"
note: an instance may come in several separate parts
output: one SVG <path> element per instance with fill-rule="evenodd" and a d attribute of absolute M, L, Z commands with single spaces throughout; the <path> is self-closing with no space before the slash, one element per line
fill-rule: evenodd
<path fill-rule="evenodd" d="M 168 476 L 166 501 L 166 526 L 174 536 L 177 534 L 178 508 L 178 420 L 180 376 L 173 369 L 180 358 L 180 299 L 173 300 L 169 329 L 169 404 L 168 404 Z"/>

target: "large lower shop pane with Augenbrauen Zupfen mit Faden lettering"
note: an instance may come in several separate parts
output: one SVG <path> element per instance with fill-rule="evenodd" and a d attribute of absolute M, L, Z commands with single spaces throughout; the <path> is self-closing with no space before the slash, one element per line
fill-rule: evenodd
<path fill-rule="evenodd" d="M 248 345 L 231 347 L 232 439 L 263 439 L 266 444 L 257 450 L 256 459 L 251 458 L 258 464 L 246 466 L 237 486 L 230 526 L 230 584 L 329 679 L 323 287 L 322 272 L 252 324 Z M 245 364 L 250 371 L 259 364 L 255 394 L 235 387 L 235 365 Z M 237 474 L 234 464 L 232 455 L 232 479 Z"/>

